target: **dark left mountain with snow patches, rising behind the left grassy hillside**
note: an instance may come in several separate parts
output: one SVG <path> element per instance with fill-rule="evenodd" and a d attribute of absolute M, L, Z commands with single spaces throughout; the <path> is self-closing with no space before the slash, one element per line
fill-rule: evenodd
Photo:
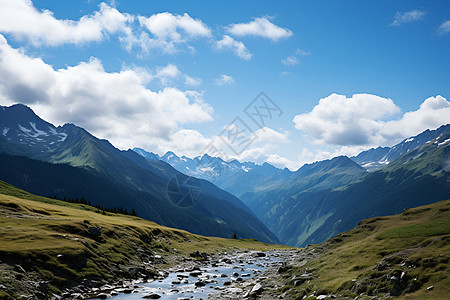
<path fill-rule="evenodd" d="M 159 224 L 208 236 L 276 236 L 238 198 L 162 161 L 121 151 L 74 124 L 55 127 L 29 107 L 0 107 L 0 180 L 60 199 L 135 209 Z"/>

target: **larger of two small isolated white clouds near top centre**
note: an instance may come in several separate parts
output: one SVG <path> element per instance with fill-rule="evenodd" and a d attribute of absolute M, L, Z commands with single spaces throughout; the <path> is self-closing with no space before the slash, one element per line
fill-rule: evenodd
<path fill-rule="evenodd" d="M 258 36 L 274 42 L 292 36 L 291 30 L 273 24 L 267 17 L 255 18 L 248 23 L 231 24 L 227 30 L 234 36 Z"/>

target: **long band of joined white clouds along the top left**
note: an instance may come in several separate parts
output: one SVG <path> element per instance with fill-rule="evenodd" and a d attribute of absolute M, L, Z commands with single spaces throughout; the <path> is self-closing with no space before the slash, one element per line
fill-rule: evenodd
<path fill-rule="evenodd" d="M 146 17 L 121 13 L 102 2 L 93 14 L 79 20 L 61 20 L 49 10 L 38 10 L 31 0 L 0 0 L 0 6 L 0 31 L 28 39 L 35 46 L 80 44 L 118 35 L 125 49 L 137 47 L 145 55 L 155 49 L 163 53 L 193 50 L 190 41 L 212 37 L 205 23 L 186 13 L 163 12 Z"/>

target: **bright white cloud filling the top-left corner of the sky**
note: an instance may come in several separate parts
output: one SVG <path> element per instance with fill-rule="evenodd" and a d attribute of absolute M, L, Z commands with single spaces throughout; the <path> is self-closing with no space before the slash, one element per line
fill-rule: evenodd
<path fill-rule="evenodd" d="M 131 34 L 132 16 L 105 3 L 78 21 L 56 19 L 51 11 L 36 9 L 31 0 L 0 0 L 0 7 L 0 31 L 34 45 L 79 44 L 100 41 L 109 34 Z"/>

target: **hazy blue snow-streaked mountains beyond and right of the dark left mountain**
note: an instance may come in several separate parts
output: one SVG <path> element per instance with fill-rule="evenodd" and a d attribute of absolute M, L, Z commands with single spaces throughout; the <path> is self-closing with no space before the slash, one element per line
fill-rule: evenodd
<path fill-rule="evenodd" d="M 159 157 L 143 149 L 133 150 L 166 161 L 181 172 L 209 176 L 247 204 L 281 242 L 304 246 L 349 230 L 364 218 L 450 198 L 449 132 L 450 125 L 443 125 L 393 147 L 306 164 L 296 172 L 267 163 L 225 162 L 206 155 L 180 158 L 173 152 Z M 420 156 L 411 160 L 418 151 Z M 216 167 L 213 175 L 196 167 L 214 159 L 221 167 Z"/>

